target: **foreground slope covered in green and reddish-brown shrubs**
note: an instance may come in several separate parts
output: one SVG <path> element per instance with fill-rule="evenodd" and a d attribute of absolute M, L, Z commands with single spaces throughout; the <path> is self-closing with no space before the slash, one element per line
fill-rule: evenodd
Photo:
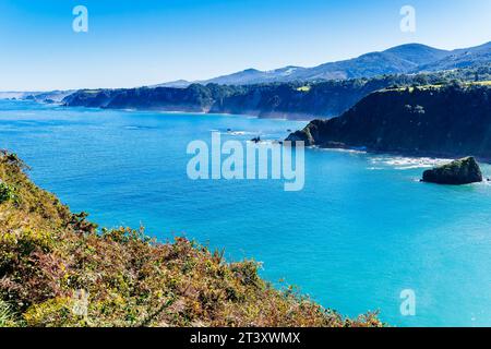
<path fill-rule="evenodd" d="M 24 170 L 0 153 L 0 326 L 381 325 L 373 314 L 343 318 L 292 288 L 274 289 L 256 263 L 226 263 L 185 239 L 97 232 Z M 74 312 L 81 291 L 86 313 Z"/>

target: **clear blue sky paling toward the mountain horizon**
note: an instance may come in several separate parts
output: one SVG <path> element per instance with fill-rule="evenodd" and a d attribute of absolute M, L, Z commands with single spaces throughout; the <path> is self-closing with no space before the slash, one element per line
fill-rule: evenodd
<path fill-rule="evenodd" d="M 72 11 L 84 5 L 88 31 Z M 416 10 L 416 32 L 400 9 Z M 135 87 L 491 41 L 491 0 L 0 0 L 0 91 Z"/>

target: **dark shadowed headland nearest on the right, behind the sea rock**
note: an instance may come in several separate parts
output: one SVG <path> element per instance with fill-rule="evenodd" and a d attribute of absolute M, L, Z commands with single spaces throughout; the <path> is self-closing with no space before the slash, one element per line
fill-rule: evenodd
<path fill-rule="evenodd" d="M 288 140 L 321 147 L 491 157 L 491 88 L 448 85 L 376 92 Z"/>

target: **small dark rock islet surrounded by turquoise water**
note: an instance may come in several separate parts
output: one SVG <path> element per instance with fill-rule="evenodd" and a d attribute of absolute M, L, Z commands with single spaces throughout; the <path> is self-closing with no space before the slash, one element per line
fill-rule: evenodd
<path fill-rule="evenodd" d="M 466 157 L 424 171 L 422 181 L 438 184 L 469 184 L 482 182 L 482 172 L 474 157 Z"/>

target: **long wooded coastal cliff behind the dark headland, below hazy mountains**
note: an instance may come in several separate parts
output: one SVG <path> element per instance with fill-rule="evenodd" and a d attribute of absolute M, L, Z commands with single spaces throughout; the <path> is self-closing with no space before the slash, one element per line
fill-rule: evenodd
<path fill-rule="evenodd" d="M 77 107 L 236 113 L 308 120 L 336 117 L 364 96 L 391 86 L 488 79 L 491 79 L 491 64 L 428 74 L 384 75 L 312 83 L 247 86 L 192 84 L 187 88 L 82 89 L 65 97 L 63 104 Z"/>

